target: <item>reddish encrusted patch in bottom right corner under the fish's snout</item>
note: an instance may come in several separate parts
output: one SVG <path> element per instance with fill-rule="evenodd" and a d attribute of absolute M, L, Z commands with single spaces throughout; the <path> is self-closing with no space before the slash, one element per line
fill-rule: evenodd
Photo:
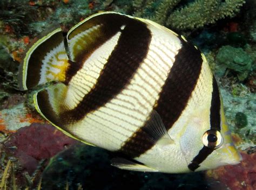
<path fill-rule="evenodd" d="M 254 147 L 255 149 L 255 147 Z M 242 161 L 238 165 L 228 165 L 207 171 L 214 178 L 232 190 L 256 189 L 256 152 L 248 149 L 241 152 Z"/>

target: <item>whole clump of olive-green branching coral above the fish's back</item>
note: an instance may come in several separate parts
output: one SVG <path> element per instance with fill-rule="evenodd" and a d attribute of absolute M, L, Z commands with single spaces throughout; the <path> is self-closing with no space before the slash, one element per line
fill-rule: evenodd
<path fill-rule="evenodd" d="M 134 16 L 149 18 L 177 30 L 197 29 L 239 12 L 244 0 L 196 0 L 174 8 L 180 0 L 134 0 Z"/>

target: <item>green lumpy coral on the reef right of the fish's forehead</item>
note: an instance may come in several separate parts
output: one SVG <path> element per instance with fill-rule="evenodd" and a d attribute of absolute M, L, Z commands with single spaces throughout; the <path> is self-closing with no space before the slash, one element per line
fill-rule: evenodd
<path fill-rule="evenodd" d="M 223 46 L 219 49 L 216 59 L 219 65 L 236 72 L 240 81 L 244 81 L 252 70 L 253 60 L 242 48 Z"/>

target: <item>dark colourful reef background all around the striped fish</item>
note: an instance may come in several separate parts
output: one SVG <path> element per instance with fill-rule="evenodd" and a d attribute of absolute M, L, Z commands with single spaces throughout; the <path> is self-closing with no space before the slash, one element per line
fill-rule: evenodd
<path fill-rule="evenodd" d="M 151 19 L 199 47 L 215 74 L 238 165 L 188 174 L 143 173 L 110 165 L 112 153 L 65 136 L 17 89 L 26 48 L 51 24 L 64 32 L 101 11 Z M 256 189 L 255 0 L 1 0 L 0 189 Z"/>

